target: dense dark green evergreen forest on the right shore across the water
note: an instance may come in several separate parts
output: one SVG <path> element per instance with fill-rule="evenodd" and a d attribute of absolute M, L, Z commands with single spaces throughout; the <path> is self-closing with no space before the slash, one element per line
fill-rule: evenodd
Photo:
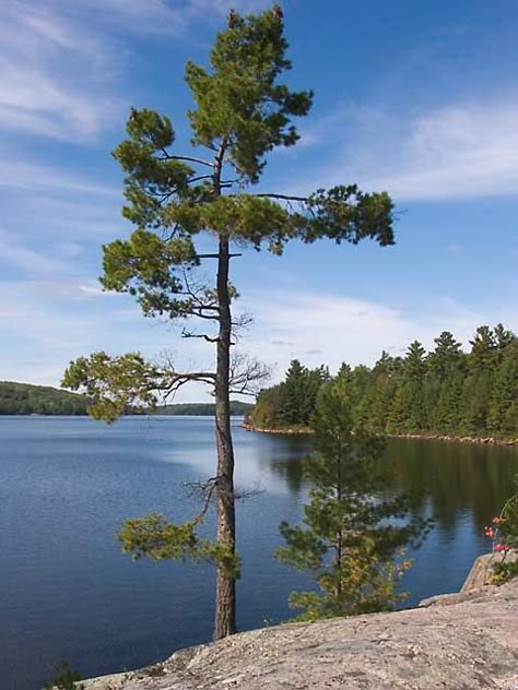
<path fill-rule="evenodd" d="M 480 326 L 469 352 L 447 331 L 426 353 L 417 341 L 403 357 L 386 352 L 374 365 L 325 367 L 292 361 L 285 380 L 262 391 L 256 428 L 308 428 L 320 385 L 334 380 L 358 424 L 376 433 L 518 438 L 518 337 L 502 324 Z"/>

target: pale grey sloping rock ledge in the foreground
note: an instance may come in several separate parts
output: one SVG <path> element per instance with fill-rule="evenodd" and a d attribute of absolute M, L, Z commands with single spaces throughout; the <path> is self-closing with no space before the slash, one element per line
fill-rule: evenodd
<path fill-rule="evenodd" d="M 518 690 L 518 579 L 392 614 L 244 632 L 86 688 Z"/>

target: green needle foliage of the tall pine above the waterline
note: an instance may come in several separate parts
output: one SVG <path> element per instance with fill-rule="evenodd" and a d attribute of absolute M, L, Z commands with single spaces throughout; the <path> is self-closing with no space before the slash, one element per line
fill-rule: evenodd
<path fill-rule="evenodd" d="M 144 316 L 198 317 L 205 325 L 219 321 L 217 292 L 196 284 L 191 275 L 200 262 L 195 243 L 199 233 L 239 246 L 264 246 L 276 254 L 291 239 L 356 243 L 373 238 L 381 246 L 393 243 L 392 202 L 386 192 L 365 193 L 355 185 L 341 185 L 289 198 L 247 189 L 259 180 L 269 152 L 296 143 L 293 119 L 307 115 L 311 106 L 310 91 L 291 91 L 280 81 L 291 68 L 286 50 L 278 12 L 233 12 L 228 28 L 217 34 L 210 66 L 187 62 L 186 81 L 195 102 L 187 114 L 197 146 L 192 156 L 176 153 L 168 117 L 131 108 L 127 138 L 113 155 L 126 175 L 122 213 L 136 229 L 128 239 L 103 248 L 101 282 L 107 290 L 134 296 Z M 200 148 L 209 152 L 209 159 L 198 157 Z M 235 298 L 235 289 L 228 289 Z M 139 357 L 107 362 L 106 355 L 97 353 L 81 358 L 63 384 L 90 391 L 92 414 L 113 421 L 133 401 L 155 402 L 152 368 L 144 372 L 144 362 L 136 361 Z M 145 382 L 131 386 L 128 379 L 143 374 Z M 156 384 L 163 384 L 160 374 Z M 307 407 L 314 398 L 311 392 Z M 307 424 L 310 409 L 301 414 L 301 424 Z"/>

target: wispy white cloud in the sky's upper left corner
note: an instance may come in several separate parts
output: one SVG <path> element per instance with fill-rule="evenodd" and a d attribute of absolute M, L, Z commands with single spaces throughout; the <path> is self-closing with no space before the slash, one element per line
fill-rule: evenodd
<path fill-rule="evenodd" d="M 51 4 L 7 0 L 0 14 L 0 124 L 89 141 L 115 111 L 107 84 L 120 47 Z"/>

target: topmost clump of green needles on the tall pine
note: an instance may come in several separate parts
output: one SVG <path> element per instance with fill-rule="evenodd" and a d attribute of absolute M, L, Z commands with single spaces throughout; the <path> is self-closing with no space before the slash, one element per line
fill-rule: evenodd
<path fill-rule="evenodd" d="M 197 108 L 188 112 L 195 145 L 217 148 L 228 140 L 228 156 L 242 182 L 257 182 L 263 156 L 291 146 L 298 135 L 293 116 L 307 115 L 311 92 L 291 92 L 276 83 L 291 68 L 282 22 L 270 11 L 236 14 L 234 25 L 217 34 L 212 71 L 188 62 L 186 81 Z"/>

